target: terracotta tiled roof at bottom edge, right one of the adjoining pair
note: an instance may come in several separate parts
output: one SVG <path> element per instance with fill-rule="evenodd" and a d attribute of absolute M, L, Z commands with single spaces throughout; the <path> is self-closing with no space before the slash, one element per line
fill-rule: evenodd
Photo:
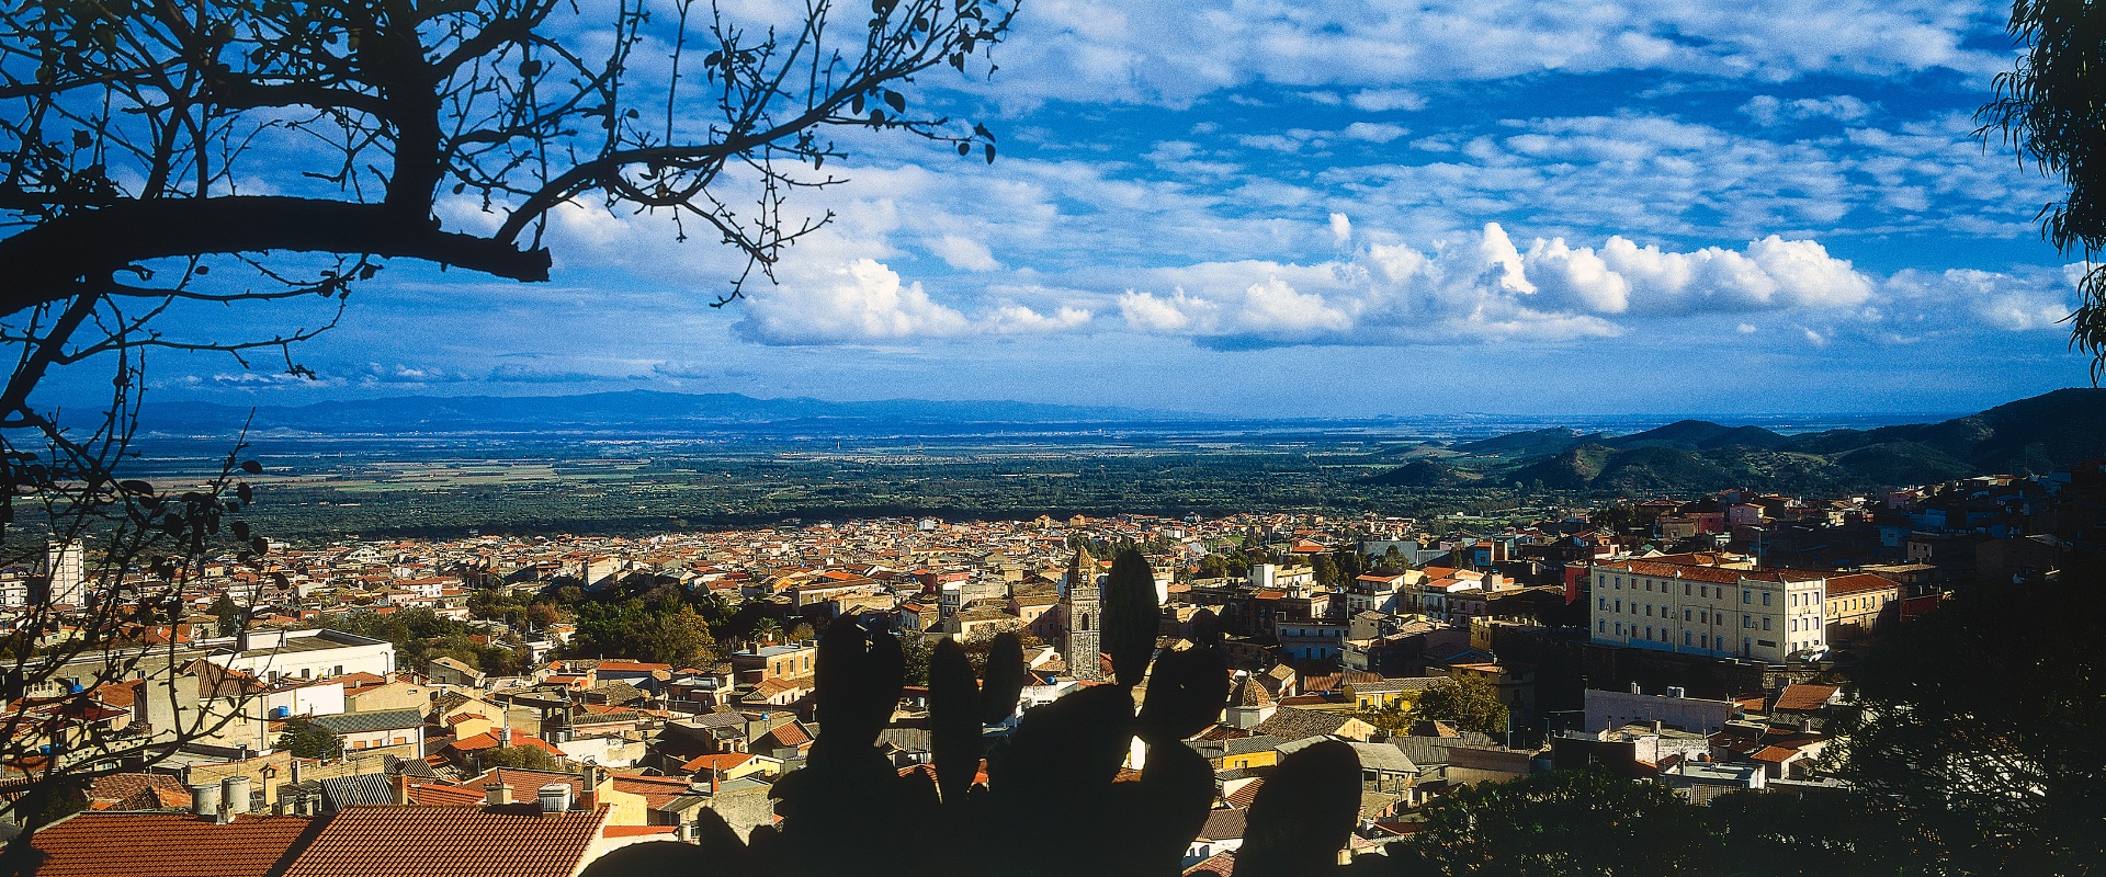
<path fill-rule="evenodd" d="M 356 805 L 333 816 L 284 877 L 571 877 L 607 814 Z"/>

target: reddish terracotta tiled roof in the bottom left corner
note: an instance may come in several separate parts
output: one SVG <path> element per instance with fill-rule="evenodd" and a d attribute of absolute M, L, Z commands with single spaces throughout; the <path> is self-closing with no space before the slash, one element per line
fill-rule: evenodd
<path fill-rule="evenodd" d="M 213 824 L 190 814 L 101 812 L 46 827 L 29 845 L 46 856 L 40 877 L 265 877 L 310 824 L 305 816 Z"/>

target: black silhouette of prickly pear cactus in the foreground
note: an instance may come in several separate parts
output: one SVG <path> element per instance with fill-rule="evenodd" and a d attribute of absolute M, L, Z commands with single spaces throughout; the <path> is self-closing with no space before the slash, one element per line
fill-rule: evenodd
<path fill-rule="evenodd" d="M 899 700 L 897 639 L 834 620 L 819 637 L 819 738 L 804 768 L 771 791 L 779 827 L 754 829 L 739 843 L 706 810 L 697 843 L 621 848 L 581 877 L 1177 875 L 1215 797 L 1213 768 L 1181 740 L 1219 717 L 1228 662 L 1217 635 L 1200 631 L 1213 631 L 1207 612 L 1194 618 L 1198 648 L 1154 654 L 1154 583 L 1135 576 L 1114 585 L 1120 562 L 1125 555 L 1114 562 L 1104 601 L 1104 644 L 1120 684 L 1087 686 L 1032 709 L 990 753 L 984 726 L 1015 713 L 1024 650 L 1015 635 L 996 637 L 986 679 L 975 679 L 958 644 L 937 644 L 929 660 L 931 784 L 925 772 L 901 776 L 876 749 Z M 1135 713 L 1133 688 L 1150 660 L 1154 671 Z M 1137 778 L 1122 780 L 1135 738 L 1146 742 L 1146 763 Z M 975 787 L 981 757 L 988 784 Z M 1358 795 L 1352 747 L 1323 742 L 1287 757 L 1251 805 L 1236 873 L 1304 877 L 1335 869 Z"/>

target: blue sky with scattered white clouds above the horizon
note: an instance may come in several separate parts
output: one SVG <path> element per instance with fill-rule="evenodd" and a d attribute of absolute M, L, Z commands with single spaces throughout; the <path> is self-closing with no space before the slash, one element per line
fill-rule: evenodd
<path fill-rule="evenodd" d="M 845 135 L 849 183 L 796 204 L 836 219 L 743 301 L 710 307 L 737 261 L 708 238 L 571 206 L 548 284 L 360 286 L 297 349 L 318 381 L 225 355 L 150 379 L 257 404 L 1978 410 L 2089 381 L 2058 324 L 2074 269 L 2034 225 L 2055 181 L 1973 137 L 2007 8 L 1024 0 L 1000 72 L 912 88 L 1000 158 Z"/>

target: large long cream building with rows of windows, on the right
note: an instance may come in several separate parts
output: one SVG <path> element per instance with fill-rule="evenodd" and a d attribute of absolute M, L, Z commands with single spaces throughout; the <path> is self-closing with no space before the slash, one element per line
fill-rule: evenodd
<path fill-rule="evenodd" d="M 1826 576 L 1615 562 L 1592 568 L 1592 641 L 1784 662 L 1828 648 Z"/>

